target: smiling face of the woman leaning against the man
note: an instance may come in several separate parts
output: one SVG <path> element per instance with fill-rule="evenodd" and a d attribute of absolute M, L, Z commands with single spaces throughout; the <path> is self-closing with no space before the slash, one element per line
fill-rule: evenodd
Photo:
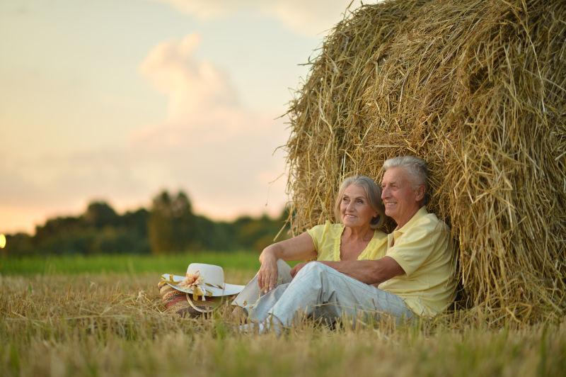
<path fill-rule="evenodd" d="M 342 193 L 340 217 L 347 227 L 366 227 L 377 212 L 371 208 L 362 186 L 351 184 Z"/>

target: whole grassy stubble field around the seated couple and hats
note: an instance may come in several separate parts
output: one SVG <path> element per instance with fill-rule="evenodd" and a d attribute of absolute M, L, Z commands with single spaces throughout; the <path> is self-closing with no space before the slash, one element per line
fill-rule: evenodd
<path fill-rule="evenodd" d="M 246 283 L 257 255 L 0 259 L 2 376 L 559 376 L 566 320 L 490 327 L 480 315 L 395 327 L 311 320 L 282 337 L 241 334 L 223 307 L 209 319 L 162 313 L 159 274 L 187 261 Z M 562 371 L 562 372 L 561 372 Z"/>

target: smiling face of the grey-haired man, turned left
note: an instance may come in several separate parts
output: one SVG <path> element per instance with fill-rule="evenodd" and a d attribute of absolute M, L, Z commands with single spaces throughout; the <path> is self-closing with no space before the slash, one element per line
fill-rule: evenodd
<path fill-rule="evenodd" d="M 403 227 L 420 208 L 424 198 L 424 186 L 413 187 L 410 175 L 403 167 L 393 167 L 383 174 L 381 200 L 385 214 L 395 220 L 398 228 Z"/>

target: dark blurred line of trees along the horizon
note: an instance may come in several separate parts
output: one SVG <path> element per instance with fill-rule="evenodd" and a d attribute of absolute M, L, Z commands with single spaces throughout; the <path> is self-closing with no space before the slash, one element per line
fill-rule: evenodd
<path fill-rule="evenodd" d="M 279 218 L 243 215 L 233 221 L 214 221 L 198 215 L 183 191 L 162 191 L 151 208 L 117 213 L 105 201 L 93 201 L 79 216 L 48 219 L 35 235 L 6 235 L 4 255 L 32 254 L 167 254 L 203 250 L 261 251 L 287 237 L 287 210 Z M 282 230 L 281 232 L 279 232 Z"/>

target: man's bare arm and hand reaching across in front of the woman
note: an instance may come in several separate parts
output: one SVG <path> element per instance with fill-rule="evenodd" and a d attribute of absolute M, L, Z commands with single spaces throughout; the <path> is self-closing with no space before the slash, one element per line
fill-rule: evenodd
<path fill-rule="evenodd" d="M 291 276 L 294 277 L 306 263 L 294 266 L 291 270 Z M 397 261 L 391 257 L 383 257 L 375 261 L 318 261 L 318 263 L 326 264 L 336 271 L 366 284 L 383 283 L 390 278 L 405 274 Z"/>

